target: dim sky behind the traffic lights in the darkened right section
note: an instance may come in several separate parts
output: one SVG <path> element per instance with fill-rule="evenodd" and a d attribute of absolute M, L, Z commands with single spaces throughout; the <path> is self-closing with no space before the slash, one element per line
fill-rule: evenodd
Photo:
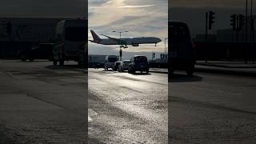
<path fill-rule="evenodd" d="M 253 13 L 255 14 L 256 2 L 253 1 Z M 230 29 L 230 15 L 245 14 L 246 0 L 170 0 L 169 8 L 169 18 L 186 22 L 194 36 L 204 33 L 205 14 L 209 10 L 216 13 L 211 33 L 219 29 Z M 250 0 L 248 0 L 248 8 L 250 8 Z M 248 14 L 250 14 L 250 9 L 248 9 Z"/>

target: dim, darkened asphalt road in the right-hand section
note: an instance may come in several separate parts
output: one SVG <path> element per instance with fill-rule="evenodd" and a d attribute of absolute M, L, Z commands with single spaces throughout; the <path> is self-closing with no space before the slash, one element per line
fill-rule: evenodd
<path fill-rule="evenodd" d="M 170 80 L 170 143 L 256 143 L 256 78 L 178 73 Z"/>

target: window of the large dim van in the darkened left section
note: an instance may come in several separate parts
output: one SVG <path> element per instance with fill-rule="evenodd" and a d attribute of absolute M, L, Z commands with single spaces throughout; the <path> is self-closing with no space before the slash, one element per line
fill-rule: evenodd
<path fill-rule="evenodd" d="M 71 42 L 85 42 L 87 38 L 86 27 L 67 27 L 65 38 Z"/>

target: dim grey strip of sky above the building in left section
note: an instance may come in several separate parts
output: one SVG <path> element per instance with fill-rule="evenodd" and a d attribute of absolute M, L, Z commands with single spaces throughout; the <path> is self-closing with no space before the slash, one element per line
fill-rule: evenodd
<path fill-rule="evenodd" d="M 82 18 L 88 0 L 1 0 L 0 17 Z"/>

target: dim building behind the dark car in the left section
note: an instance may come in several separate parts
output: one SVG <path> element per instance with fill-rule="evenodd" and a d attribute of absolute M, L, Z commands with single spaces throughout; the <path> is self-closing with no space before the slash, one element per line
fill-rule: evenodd
<path fill-rule="evenodd" d="M 14 58 L 18 50 L 53 42 L 58 22 L 66 18 L 0 18 L 0 58 Z"/>

